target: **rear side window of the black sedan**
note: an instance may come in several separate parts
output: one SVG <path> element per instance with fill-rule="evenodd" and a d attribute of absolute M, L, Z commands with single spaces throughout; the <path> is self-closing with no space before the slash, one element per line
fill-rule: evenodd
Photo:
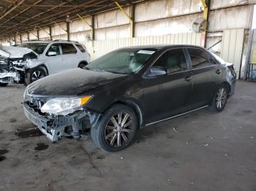
<path fill-rule="evenodd" d="M 192 69 L 200 69 L 216 64 L 209 61 L 209 56 L 203 50 L 197 48 L 188 48 L 187 50 L 191 59 Z"/>

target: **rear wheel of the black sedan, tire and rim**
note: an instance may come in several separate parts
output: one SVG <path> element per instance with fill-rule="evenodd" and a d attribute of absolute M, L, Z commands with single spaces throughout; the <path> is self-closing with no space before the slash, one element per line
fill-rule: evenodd
<path fill-rule="evenodd" d="M 217 88 L 214 98 L 211 101 L 210 109 L 214 112 L 222 112 L 227 104 L 228 90 L 227 85 L 221 85 Z"/>

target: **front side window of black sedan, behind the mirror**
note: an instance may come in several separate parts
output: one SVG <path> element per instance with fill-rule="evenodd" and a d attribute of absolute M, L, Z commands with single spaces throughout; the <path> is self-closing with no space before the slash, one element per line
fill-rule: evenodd
<path fill-rule="evenodd" d="M 182 49 L 168 50 L 154 63 L 154 66 L 164 68 L 167 74 L 187 70 L 186 59 Z"/>

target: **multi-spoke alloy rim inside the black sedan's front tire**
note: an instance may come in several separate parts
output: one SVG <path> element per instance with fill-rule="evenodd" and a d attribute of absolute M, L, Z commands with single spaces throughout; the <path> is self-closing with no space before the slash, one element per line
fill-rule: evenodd
<path fill-rule="evenodd" d="M 132 133 L 132 117 L 126 112 L 120 112 L 112 117 L 105 126 L 105 141 L 110 147 L 121 147 L 129 141 Z"/>

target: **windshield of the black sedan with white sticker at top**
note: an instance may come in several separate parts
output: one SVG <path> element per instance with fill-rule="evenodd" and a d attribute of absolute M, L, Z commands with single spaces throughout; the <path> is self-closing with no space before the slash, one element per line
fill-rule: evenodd
<path fill-rule="evenodd" d="M 118 74 L 131 74 L 139 71 L 155 49 L 126 49 L 110 52 L 86 66 L 89 70 L 102 70 Z"/>

